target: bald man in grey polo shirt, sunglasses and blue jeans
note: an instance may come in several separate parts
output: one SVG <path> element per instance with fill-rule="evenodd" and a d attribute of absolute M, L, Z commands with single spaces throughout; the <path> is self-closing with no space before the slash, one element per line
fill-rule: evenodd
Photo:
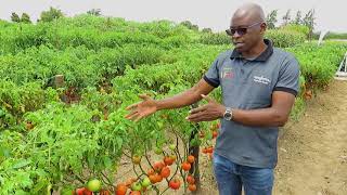
<path fill-rule="evenodd" d="M 241 195 L 242 187 L 246 195 L 271 194 L 279 127 L 287 121 L 298 93 L 298 62 L 264 39 L 266 27 L 259 5 L 242 5 L 227 30 L 234 50 L 220 54 L 193 88 L 159 101 L 140 95 L 143 102 L 128 107 L 126 117 L 139 120 L 206 99 L 208 104 L 192 109 L 187 119 L 221 119 L 214 170 L 222 195 Z M 206 96 L 219 86 L 222 104 Z"/>

